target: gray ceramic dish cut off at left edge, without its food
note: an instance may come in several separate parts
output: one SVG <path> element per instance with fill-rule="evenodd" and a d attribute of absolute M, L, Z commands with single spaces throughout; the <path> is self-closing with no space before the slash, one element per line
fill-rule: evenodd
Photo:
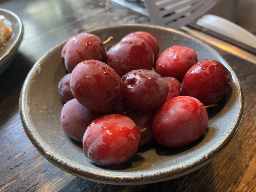
<path fill-rule="evenodd" d="M 8 67 L 19 48 L 23 37 L 23 25 L 20 18 L 11 11 L 0 9 L 0 15 L 5 16 L 12 23 L 12 36 L 0 48 L 0 74 Z"/>

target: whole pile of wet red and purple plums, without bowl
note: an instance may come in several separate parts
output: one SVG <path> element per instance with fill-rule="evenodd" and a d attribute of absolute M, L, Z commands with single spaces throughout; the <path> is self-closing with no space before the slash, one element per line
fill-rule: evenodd
<path fill-rule="evenodd" d="M 128 34 L 108 52 L 106 42 L 82 33 L 61 52 L 69 72 L 58 87 L 67 102 L 61 125 L 83 143 L 86 157 L 114 166 L 152 138 L 182 147 L 203 135 L 205 106 L 231 87 L 232 76 L 221 63 L 198 62 L 196 52 L 181 45 L 170 45 L 158 57 L 157 39 L 143 31 Z"/>

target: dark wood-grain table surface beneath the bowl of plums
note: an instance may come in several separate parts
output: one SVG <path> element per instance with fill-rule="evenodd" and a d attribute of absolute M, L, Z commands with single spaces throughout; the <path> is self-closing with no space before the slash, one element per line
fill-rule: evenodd
<path fill-rule="evenodd" d="M 109 0 L 2 0 L 23 20 L 25 35 L 11 65 L 0 75 L 0 191 L 256 191 L 256 65 L 221 50 L 245 95 L 236 137 L 210 164 L 171 181 L 140 186 L 84 180 L 48 162 L 30 143 L 19 116 L 19 94 L 33 64 L 53 46 L 82 31 L 150 23 Z"/>

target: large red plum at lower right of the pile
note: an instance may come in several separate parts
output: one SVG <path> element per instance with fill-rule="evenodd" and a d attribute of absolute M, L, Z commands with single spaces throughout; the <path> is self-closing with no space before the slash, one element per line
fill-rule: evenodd
<path fill-rule="evenodd" d="M 166 147 L 182 147 L 206 131 L 208 113 L 203 103 L 193 97 L 179 96 L 167 101 L 155 114 L 153 137 Z"/>

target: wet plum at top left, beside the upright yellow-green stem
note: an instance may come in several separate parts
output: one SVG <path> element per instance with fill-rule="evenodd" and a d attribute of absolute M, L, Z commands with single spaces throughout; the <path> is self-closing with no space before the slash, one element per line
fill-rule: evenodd
<path fill-rule="evenodd" d="M 107 62 L 107 51 L 101 39 L 96 35 L 81 33 L 71 39 L 65 53 L 65 67 L 69 71 L 84 60 L 95 59 Z"/>

